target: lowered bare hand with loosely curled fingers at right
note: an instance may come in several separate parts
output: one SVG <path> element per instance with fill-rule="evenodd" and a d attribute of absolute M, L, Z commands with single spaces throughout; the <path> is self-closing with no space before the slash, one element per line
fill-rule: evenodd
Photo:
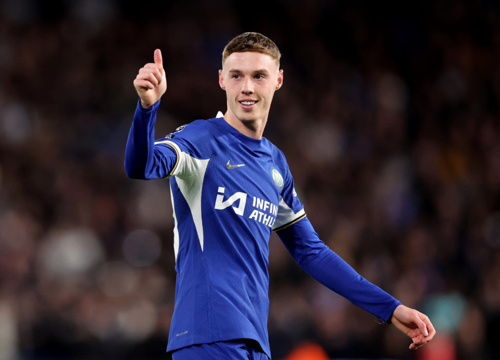
<path fill-rule="evenodd" d="M 436 333 L 427 315 L 404 305 L 395 308 L 390 321 L 413 340 L 409 345 L 412 350 L 432 340 Z"/>

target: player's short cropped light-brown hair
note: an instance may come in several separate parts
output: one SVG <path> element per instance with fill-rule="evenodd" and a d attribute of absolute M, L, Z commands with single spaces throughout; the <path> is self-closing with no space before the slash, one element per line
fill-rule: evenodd
<path fill-rule="evenodd" d="M 281 53 L 276 44 L 259 33 L 243 33 L 233 38 L 222 51 L 222 65 L 232 53 L 256 52 L 269 55 L 279 67 Z"/>

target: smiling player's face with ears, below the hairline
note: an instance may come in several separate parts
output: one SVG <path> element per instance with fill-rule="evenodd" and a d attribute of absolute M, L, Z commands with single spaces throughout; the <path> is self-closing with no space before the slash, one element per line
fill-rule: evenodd
<path fill-rule="evenodd" d="M 272 96 L 282 83 L 283 71 L 269 55 L 261 53 L 232 53 L 219 70 L 229 116 L 232 113 L 244 123 L 267 119 Z"/>

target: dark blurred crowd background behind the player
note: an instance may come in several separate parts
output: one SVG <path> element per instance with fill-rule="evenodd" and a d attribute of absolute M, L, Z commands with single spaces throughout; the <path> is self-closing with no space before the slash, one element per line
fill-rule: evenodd
<path fill-rule="evenodd" d="M 273 357 L 500 358 L 499 5 L 392 3 L 0 1 L 0 359 L 168 358 L 172 210 L 123 170 L 132 81 L 160 48 L 157 137 L 213 117 L 245 31 L 281 50 L 264 136 L 320 238 L 438 332 L 409 351 L 273 234 Z"/>

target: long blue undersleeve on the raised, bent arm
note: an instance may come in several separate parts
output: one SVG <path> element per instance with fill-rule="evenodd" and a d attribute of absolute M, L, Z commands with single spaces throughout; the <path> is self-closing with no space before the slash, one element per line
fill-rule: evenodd
<path fill-rule="evenodd" d="M 124 167 L 132 179 L 158 179 L 171 174 L 177 161 L 176 150 L 154 143 L 154 124 L 160 101 L 145 109 L 137 103 L 125 147 Z"/>

